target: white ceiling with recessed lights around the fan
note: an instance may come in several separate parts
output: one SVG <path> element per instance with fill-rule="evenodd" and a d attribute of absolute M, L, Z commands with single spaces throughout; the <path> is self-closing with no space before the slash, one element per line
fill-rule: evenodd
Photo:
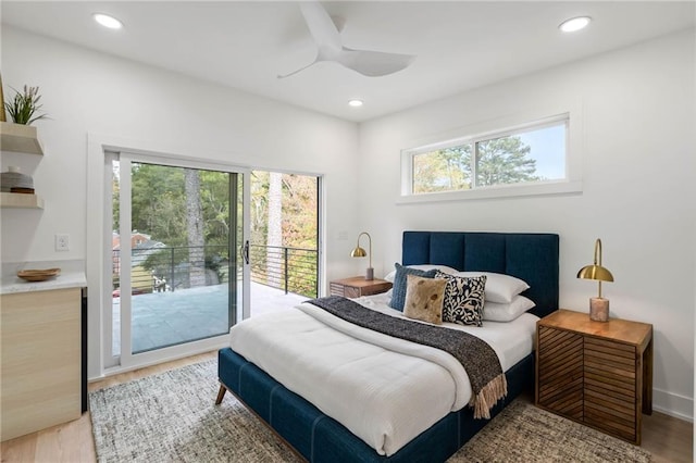
<path fill-rule="evenodd" d="M 328 1 L 350 48 L 417 54 L 393 75 L 365 77 L 313 60 L 296 2 L 1 2 L 2 24 L 223 84 L 349 121 L 366 121 L 517 75 L 694 27 L 695 3 Z M 120 18 L 117 32 L 91 14 Z M 589 15 L 573 35 L 558 25 Z M 349 108 L 352 98 L 362 108 Z"/>

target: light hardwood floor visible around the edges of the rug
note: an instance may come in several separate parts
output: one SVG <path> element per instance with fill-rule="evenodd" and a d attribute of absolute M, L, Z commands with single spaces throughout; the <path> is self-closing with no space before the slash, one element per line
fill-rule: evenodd
<path fill-rule="evenodd" d="M 114 386 L 166 370 L 214 359 L 216 352 L 194 355 L 161 365 L 122 373 L 89 385 L 89 390 Z M 211 397 L 211 400 L 214 398 Z M 643 448 L 654 463 L 693 462 L 693 425 L 655 412 L 643 416 Z M 2 462 L 95 462 L 95 441 L 89 412 L 79 420 L 2 442 Z"/>

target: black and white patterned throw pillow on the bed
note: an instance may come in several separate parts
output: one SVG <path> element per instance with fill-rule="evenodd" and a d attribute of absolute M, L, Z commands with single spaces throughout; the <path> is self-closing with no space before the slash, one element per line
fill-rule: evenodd
<path fill-rule="evenodd" d="M 435 278 L 447 280 L 443 322 L 483 326 L 486 276 L 465 277 L 437 272 Z"/>

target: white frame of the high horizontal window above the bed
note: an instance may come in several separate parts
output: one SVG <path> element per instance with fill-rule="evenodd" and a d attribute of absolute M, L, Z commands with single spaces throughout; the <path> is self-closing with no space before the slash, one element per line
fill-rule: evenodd
<path fill-rule="evenodd" d="M 549 114 L 549 112 L 546 112 Z M 487 198 L 514 198 L 539 195 L 564 195 L 582 192 L 582 117 L 579 105 L 572 111 L 550 112 L 551 116 L 537 114 L 523 114 L 493 122 L 477 124 L 468 128 L 457 129 L 453 137 L 445 141 L 440 136 L 438 141 L 415 145 L 415 148 L 401 150 L 401 185 L 397 203 L 418 203 L 452 200 L 475 200 Z M 496 138 L 511 137 L 526 132 L 533 132 L 545 127 L 566 125 L 566 176 L 560 179 L 542 182 L 529 182 L 519 184 L 501 184 L 489 186 L 476 186 L 476 153 L 477 142 Z M 456 136 L 467 133 L 464 136 Z M 413 192 L 413 158 L 439 149 L 472 146 L 471 157 L 471 189 L 453 191 Z"/>

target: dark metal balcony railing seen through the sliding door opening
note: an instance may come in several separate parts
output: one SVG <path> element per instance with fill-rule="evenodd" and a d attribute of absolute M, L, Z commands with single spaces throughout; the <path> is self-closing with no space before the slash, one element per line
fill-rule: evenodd
<path fill-rule="evenodd" d="M 315 249 L 250 245 L 251 280 L 309 298 L 319 293 Z M 152 247 L 133 249 L 130 286 L 134 295 L 175 291 L 228 280 L 226 246 Z M 239 258 L 241 262 L 241 258 Z M 238 277 L 241 265 L 237 266 Z M 112 251 L 113 296 L 120 296 L 121 251 Z"/>

